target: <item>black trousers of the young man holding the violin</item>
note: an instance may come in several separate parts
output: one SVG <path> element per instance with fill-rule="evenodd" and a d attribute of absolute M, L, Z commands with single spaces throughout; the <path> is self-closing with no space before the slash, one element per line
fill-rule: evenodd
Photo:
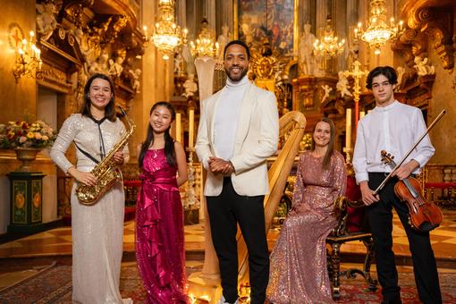
<path fill-rule="evenodd" d="M 384 181 L 384 173 L 369 173 L 369 188 L 376 190 Z M 382 285 L 384 300 L 401 299 L 398 285 L 398 274 L 393 253 L 393 207 L 401 219 L 407 233 L 410 252 L 413 260 L 413 272 L 418 288 L 419 300 L 425 304 L 442 303 L 437 265 L 434 251 L 429 241 L 429 232 L 418 232 L 409 224 L 409 209 L 394 193 L 394 185 L 398 182 L 393 178 L 379 191 L 380 200 L 367 207 L 367 218 L 374 237 L 376 250 L 376 270 L 378 281 Z"/>

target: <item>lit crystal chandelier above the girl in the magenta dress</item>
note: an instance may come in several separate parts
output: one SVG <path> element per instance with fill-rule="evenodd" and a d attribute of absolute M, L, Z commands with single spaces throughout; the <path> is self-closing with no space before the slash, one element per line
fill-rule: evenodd
<path fill-rule="evenodd" d="M 152 41 L 167 60 L 173 54 L 174 48 L 183 43 L 187 30 L 182 30 L 174 23 L 174 0 L 159 0 L 157 20 Z"/>

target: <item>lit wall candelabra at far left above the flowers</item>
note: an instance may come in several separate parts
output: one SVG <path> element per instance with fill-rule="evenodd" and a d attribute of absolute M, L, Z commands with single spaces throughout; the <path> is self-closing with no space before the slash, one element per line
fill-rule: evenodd
<path fill-rule="evenodd" d="M 21 77 L 37 78 L 41 72 L 41 50 L 33 43 L 35 33 L 30 31 L 30 40 L 23 38 L 16 44 L 16 61 L 13 65 L 13 74 L 16 83 Z"/>

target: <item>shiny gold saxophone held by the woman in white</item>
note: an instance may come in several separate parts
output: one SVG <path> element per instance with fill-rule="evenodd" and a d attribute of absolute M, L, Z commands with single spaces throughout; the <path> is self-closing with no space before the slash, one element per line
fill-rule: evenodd
<path fill-rule="evenodd" d="M 106 193 L 107 190 L 111 189 L 111 187 L 114 185 L 114 182 L 122 180 L 122 173 L 114 163 L 114 154 L 125 147 L 128 139 L 131 138 L 131 135 L 135 131 L 136 125 L 127 116 L 125 111 L 123 111 L 122 107 L 119 106 L 119 108 L 121 110 L 121 113 L 126 117 L 127 122 L 130 126 L 130 130 L 123 134 L 122 139 L 120 139 L 114 145 L 106 157 L 90 171 L 90 173 L 92 173 L 97 178 L 97 184 L 95 186 L 88 186 L 82 182 L 78 183 L 78 187 L 76 188 L 76 195 L 78 196 L 82 205 L 94 205 L 97 203 L 97 200 Z"/>

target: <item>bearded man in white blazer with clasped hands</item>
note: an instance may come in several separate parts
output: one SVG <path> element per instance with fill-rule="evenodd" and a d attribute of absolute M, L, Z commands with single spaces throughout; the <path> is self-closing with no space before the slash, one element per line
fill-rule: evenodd
<path fill-rule="evenodd" d="M 207 170 L 204 194 L 222 279 L 219 303 L 238 302 L 237 224 L 249 250 L 250 302 L 263 304 L 269 275 L 263 201 L 266 158 L 279 139 L 274 94 L 249 82 L 249 47 L 224 48 L 226 85 L 203 102 L 196 152 Z"/>

